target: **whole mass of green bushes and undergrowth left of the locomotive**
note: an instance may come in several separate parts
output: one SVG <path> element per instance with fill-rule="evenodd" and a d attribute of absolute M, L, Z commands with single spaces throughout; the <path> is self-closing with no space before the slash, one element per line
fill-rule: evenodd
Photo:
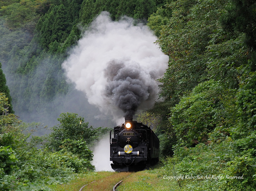
<path fill-rule="evenodd" d="M 5 100 L 4 94 L 1 100 Z M 4 102 L 0 104 L 4 108 Z M 0 115 L 0 119 L 5 119 L 0 128 L 0 189 L 6 191 L 49 190 L 49 185 L 67 183 L 76 173 L 94 170 L 88 146 L 108 131 L 88 127 L 75 113 L 62 113 L 60 125 L 46 137 L 32 136 L 45 127 L 22 123 L 13 114 Z M 76 136 L 65 131 L 71 127 L 77 127 Z"/>

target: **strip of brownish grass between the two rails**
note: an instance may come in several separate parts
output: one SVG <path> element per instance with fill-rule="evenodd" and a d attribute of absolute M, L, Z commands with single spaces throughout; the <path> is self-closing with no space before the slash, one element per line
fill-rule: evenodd
<path fill-rule="evenodd" d="M 127 177 L 129 177 L 132 173 L 131 172 L 119 172 L 114 175 L 111 175 L 109 177 L 96 180 L 93 182 L 90 182 L 84 186 L 82 186 L 79 191 L 90 191 L 90 190 L 101 190 L 101 191 L 109 191 L 113 189 L 113 191 L 116 190 L 117 186 Z M 117 182 L 117 183 L 116 183 Z M 113 187 L 113 185 L 115 185 Z"/>

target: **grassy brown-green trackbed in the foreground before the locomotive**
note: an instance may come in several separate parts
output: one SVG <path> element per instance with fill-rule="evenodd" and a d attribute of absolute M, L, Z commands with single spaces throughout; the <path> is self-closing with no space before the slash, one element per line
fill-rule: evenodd
<path fill-rule="evenodd" d="M 133 191 L 179 190 L 177 181 L 163 179 L 164 174 L 165 171 L 162 168 L 135 173 L 109 171 L 90 172 L 88 174 L 81 174 L 69 184 L 52 185 L 50 188 L 54 191 L 78 191 L 82 186 L 88 184 L 83 190 L 109 191 L 113 189 L 113 186 L 117 182 L 124 179 L 117 190 L 130 191 L 131 188 Z"/>

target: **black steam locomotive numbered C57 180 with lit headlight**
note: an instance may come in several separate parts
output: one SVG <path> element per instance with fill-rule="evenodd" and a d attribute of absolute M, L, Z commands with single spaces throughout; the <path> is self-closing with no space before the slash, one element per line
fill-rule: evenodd
<path fill-rule="evenodd" d="M 115 171 L 140 171 L 159 157 L 159 139 L 146 125 L 125 119 L 110 131 L 110 161 Z"/>

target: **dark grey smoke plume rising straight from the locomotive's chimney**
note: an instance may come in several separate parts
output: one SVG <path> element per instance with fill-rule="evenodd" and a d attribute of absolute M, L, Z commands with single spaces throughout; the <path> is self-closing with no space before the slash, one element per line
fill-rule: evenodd
<path fill-rule="evenodd" d="M 117 60 L 110 61 L 105 69 L 108 82 L 106 96 L 124 112 L 125 118 L 132 118 L 141 102 L 147 101 L 151 94 L 157 93 L 151 85 L 146 85 L 142 70 L 137 63 L 126 66 Z"/>

